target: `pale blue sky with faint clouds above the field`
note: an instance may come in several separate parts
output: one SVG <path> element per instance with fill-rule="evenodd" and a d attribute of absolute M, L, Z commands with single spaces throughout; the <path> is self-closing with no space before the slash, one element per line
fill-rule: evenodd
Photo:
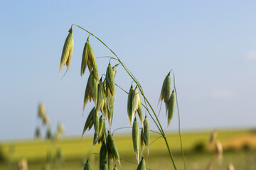
<path fill-rule="evenodd" d="M 80 77 L 80 62 L 88 34 L 79 28 L 73 28 L 70 71 L 63 79 L 58 76 L 72 23 L 116 52 L 157 112 L 161 84 L 174 69 L 181 130 L 255 128 L 255 8 L 256 1 L 234 0 L 0 1 L 0 141 L 32 138 L 41 125 L 41 101 L 53 131 L 61 122 L 65 136 L 82 133 L 92 104 L 82 117 L 89 73 Z M 95 38 L 90 43 L 96 57 L 112 56 Z M 107 59 L 97 59 L 100 75 L 107 64 Z M 129 91 L 132 80 L 122 67 L 115 80 Z M 159 118 L 166 129 L 163 106 Z M 152 120 L 149 123 L 156 129 Z M 112 126 L 128 125 L 127 95 L 117 89 Z M 177 128 L 175 111 L 168 130 Z"/>

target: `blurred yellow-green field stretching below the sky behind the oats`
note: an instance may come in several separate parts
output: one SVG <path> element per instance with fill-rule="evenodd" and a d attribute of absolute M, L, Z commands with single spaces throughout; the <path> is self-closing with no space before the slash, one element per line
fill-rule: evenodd
<path fill-rule="evenodd" d="M 255 169 L 256 153 L 253 147 L 256 144 L 253 144 L 256 141 L 252 140 L 250 147 L 248 147 L 247 143 L 242 144 L 240 147 L 233 147 L 232 145 L 235 141 L 247 135 L 255 136 L 255 132 L 252 132 L 252 130 L 218 131 L 218 140 L 225 143 L 225 147 L 223 146 L 225 152 L 222 164 L 214 161 L 215 169 L 226 169 L 226 166 L 230 162 L 234 164 L 235 169 Z M 151 132 L 151 142 L 159 136 Z M 183 169 L 178 134 L 170 133 L 166 136 L 178 169 Z M 206 169 L 208 162 L 215 158 L 213 151 L 206 149 L 209 136 L 210 131 L 182 132 L 187 169 Z M 132 147 L 132 137 L 129 135 L 114 135 L 114 140 L 122 159 L 122 169 L 136 169 L 137 165 Z M 198 146 L 203 146 L 203 149 L 206 150 L 196 152 L 195 148 Z M 246 146 L 249 149 L 244 148 Z M 54 159 L 57 149 L 61 150 L 63 156 L 63 159 L 59 161 Z M 70 137 L 64 138 L 59 142 L 45 140 L 0 142 L 0 160 L 2 160 L 0 162 L 0 169 L 17 169 L 17 162 L 23 158 L 28 160 L 28 169 L 42 169 L 43 165 L 46 164 L 47 154 L 50 154 L 52 157 L 50 166 L 53 169 L 82 169 L 82 164 L 87 158 L 90 158 L 92 169 L 97 169 L 99 159 L 97 153 L 99 153 L 99 150 L 100 145 L 96 145 L 92 150 L 92 137 L 86 137 L 82 140 L 80 140 L 80 137 Z M 146 152 L 144 152 L 144 155 L 149 169 L 173 169 L 171 159 L 169 158 L 166 145 L 162 138 L 159 138 L 159 140 L 156 140 L 150 145 L 149 157 L 146 156 Z M 121 168 L 119 167 L 119 169 Z"/>

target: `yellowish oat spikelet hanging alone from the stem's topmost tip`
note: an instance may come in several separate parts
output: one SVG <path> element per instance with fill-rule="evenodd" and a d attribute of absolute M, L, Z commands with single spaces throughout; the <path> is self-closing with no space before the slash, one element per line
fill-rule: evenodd
<path fill-rule="evenodd" d="M 68 37 L 66 38 L 63 46 L 63 52 L 60 59 L 59 75 L 65 64 L 67 65 L 67 69 L 69 69 L 71 58 L 73 55 L 74 35 L 72 28 L 70 28 L 69 32 L 70 33 L 68 33 Z"/>

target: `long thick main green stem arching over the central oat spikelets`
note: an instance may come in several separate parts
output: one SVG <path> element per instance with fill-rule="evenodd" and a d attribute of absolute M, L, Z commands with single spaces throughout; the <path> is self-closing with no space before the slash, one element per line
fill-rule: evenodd
<path fill-rule="evenodd" d="M 85 28 L 82 28 L 82 27 L 80 27 L 80 26 L 78 26 L 78 25 L 76 25 L 76 24 L 72 24 L 71 28 L 72 28 L 73 26 L 77 26 L 78 28 L 81 28 L 82 30 L 85 30 Z M 90 33 L 88 30 L 85 30 L 85 31 L 86 31 L 87 33 L 89 33 L 90 35 L 94 36 L 94 37 L 95 37 L 97 40 L 99 40 L 100 42 L 102 42 L 102 40 L 100 40 L 100 38 L 97 38 L 97 36 L 95 36 L 94 34 Z M 173 163 L 173 165 L 174 165 L 174 169 L 177 169 L 177 168 L 176 168 L 176 165 L 175 165 L 175 162 L 174 162 L 174 157 L 173 157 L 172 154 L 171 154 L 171 149 L 170 149 L 170 147 L 169 147 L 168 141 L 167 141 L 166 136 L 165 136 L 165 134 L 164 134 L 164 130 L 163 130 L 163 128 L 161 127 L 161 123 L 160 123 L 159 119 L 157 118 L 157 115 L 156 115 L 154 109 L 152 108 L 151 104 L 150 104 L 149 101 L 147 100 L 146 96 L 144 96 L 144 92 L 143 92 L 142 86 L 139 84 L 139 81 L 137 81 L 137 79 L 134 77 L 134 75 L 132 74 L 132 72 L 129 71 L 129 69 L 125 66 L 125 64 L 124 64 L 123 62 L 121 62 L 121 60 L 120 60 L 119 57 L 114 53 L 114 51 L 112 51 L 112 50 L 110 49 L 110 47 L 108 47 L 104 42 L 102 42 L 102 44 L 105 45 L 105 47 L 107 47 L 107 49 L 109 49 L 110 52 L 112 52 L 112 54 L 113 54 L 115 57 L 117 57 L 117 60 L 119 61 L 120 64 L 122 64 L 122 67 L 123 67 L 124 70 L 127 72 L 127 74 L 129 74 L 129 77 L 131 77 L 131 78 L 135 81 L 135 83 L 138 85 L 139 90 L 141 91 L 142 96 L 143 96 L 144 99 L 146 100 L 146 103 L 149 104 L 149 107 L 151 108 L 151 111 L 154 113 L 154 117 L 156 118 L 157 123 L 156 123 L 156 121 L 154 120 L 154 118 L 152 117 L 152 115 L 151 115 L 150 113 L 149 113 L 149 115 L 151 115 L 152 120 L 154 120 L 154 123 L 156 124 L 157 128 L 159 128 L 159 131 L 161 132 L 161 135 L 164 137 L 164 141 L 166 142 L 166 147 L 167 147 L 167 149 L 168 149 L 168 151 L 169 151 L 169 155 L 170 155 L 171 161 L 172 161 L 172 163 Z M 149 109 L 147 109 L 147 111 L 149 111 Z"/>

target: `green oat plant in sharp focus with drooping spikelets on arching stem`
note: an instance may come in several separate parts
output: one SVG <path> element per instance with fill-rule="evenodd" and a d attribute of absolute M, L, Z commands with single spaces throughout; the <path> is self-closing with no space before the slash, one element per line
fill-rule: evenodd
<path fill-rule="evenodd" d="M 68 72 L 70 67 L 71 58 L 73 55 L 73 47 L 74 47 L 74 33 L 73 33 L 73 26 L 77 26 L 82 30 L 82 28 L 78 25 L 73 24 L 69 30 L 68 36 L 65 40 L 65 44 L 63 46 L 63 52 L 60 59 L 60 69 L 59 74 L 61 73 L 63 67 L 66 65 Z M 82 135 L 86 132 L 86 130 L 90 130 L 93 126 L 95 130 L 94 137 L 93 137 L 93 144 L 94 147 L 97 143 L 101 145 L 100 147 L 100 162 L 99 162 L 99 169 L 117 169 L 117 165 L 113 167 L 112 162 L 115 160 L 115 163 L 118 163 L 120 167 L 121 161 L 124 160 L 122 157 L 119 156 L 118 147 L 114 142 L 114 131 L 111 130 L 112 126 L 112 118 L 114 114 L 114 102 L 116 91 L 115 89 L 118 87 L 122 89 L 122 91 L 127 94 L 127 117 L 129 120 L 130 127 L 132 127 L 132 141 L 134 147 L 134 154 L 137 159 L 137 169 L 149 169 L 146 167 L 146 160 L 142 155 L 144 147 L 147 150 L 147 154 L 149 154 L 149 141 L 150 141 L 150 134 L 151 130 L 149 130 L 149 120 L 153 120 L 154 124 L 159 130 L 159 134 L 164 139 L 166 144 L 166 149 L 169 152 L 169 157 L 171 162 L 174 166 L 174 169 L 177 169 L 174 157 L 171 154 L 171 149 L 169 147 L 169 142 L 166 139 L 165 132 L 162 128 L 162 125 L 159 121 L 158 116 L 154 108 L 149 103 L 144 91 L 142 89 L 141 84 L 139 81 L 134 77 L 134 74 L 129 71 L 127 66 L 120 60 L 120 58 L 108 47 L 105 42 L 102 42 L 100 38 L 97 38 L 94 34 L 90 33 L 88 30 L 85 30 L 88 33 L 87 40 L 85 42 L 84 49 L 82 51 L 82 62 L 81 62 L 81 71 L 80 76 L 82 77 L 86 74 L 86 69 L 88 69 L 89 77 L 87 79 L 87 84 L 85 87 L 85 96 L 82 106 L 82 111 L 85 111 L 85 107 L 87 106 L 87 102 L 93 102 L 94 107 L 87 113 L 87 120 L 85 121 L 85 126 L 82 130 Z M 92 45 L 90 45 L 90 38 L 96 38 L 99 40 L 105 47 L 107 47 L 110 52 L 112 52 L 112 57 L 107 56 L 110 58 L 110 62 L 107 64 L 105 74 L 99 75 L 97 70 L 97 62 L 95 54 L 92 50 Z M 101 58 L 101 57 L 98 57 Z M 114 60 L 117 62 L 116 65 L 112 66 L 111 61 Z M 117 82 L 115 82 L 114 77 L 117 73 L 117 66 L 122 67 L 122 69 L 127 72 L 128 76 L 132 79 L 132 83 L 135 86 L 130 87 L 129 91 L 125 91 L 122 87 L 118 86 Z M 118 67 L 118 68 L 119 68 Z M 173 76 L 173 89 L 171 89 L 171 74 Z M 177 108 L 178 111 L 178 132 L 181 142 L 181 132 L 180 132 L 180 115 L 178 110 L 178 98 L 177 98 L 177 91 L 175 86 L 175 76 L 174 70 L 171 69 L 169 74 L 167 74 L 166 79 L 164 79 L 164 83 L 161 89 L 161 94 L 159 98 L 159 102 L 163 101 L 166 106 L 166 117 L 167 117 L 167 126 L 170 125 L 171 119 L 174 115 L 174 109 Z M 143 110 L 144 113 L 143 114 Z M 148 116 L 149 115 L 149 116 Z M 109 129 L 106 127 L 106 121 L 108 122 Z M 142 128 L 139 130 L 139 123 L 141 122 Z M 182 142 L 181 142 L 181 153 L 183 154 L 182 149 Z M 184 168 L 186 169 L 186 162 L 183 155 L 183 162 Z M 90 162 L 87 160 L 84 169 L 91 169 Z"/>

